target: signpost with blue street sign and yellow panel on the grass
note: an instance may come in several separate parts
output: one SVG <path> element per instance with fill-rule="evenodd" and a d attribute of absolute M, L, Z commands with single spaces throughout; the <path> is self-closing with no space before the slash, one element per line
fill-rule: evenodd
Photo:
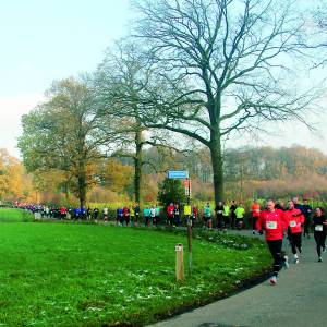
<path fill-rule="evenodd" d="M 187 196 L 187 206 L 184 207 L 184 215 L 187 217 L 187 243 L 189 243 L 189 275 L 192 276 L 192 207 L 191 207 L 191 180 L 187 170 L 169 170 L 168 179 L 185 180 L 185 195 Z"/>

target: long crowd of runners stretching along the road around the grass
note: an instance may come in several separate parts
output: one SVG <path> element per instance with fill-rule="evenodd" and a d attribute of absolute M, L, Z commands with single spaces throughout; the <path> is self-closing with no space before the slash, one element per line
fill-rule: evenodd
<path fill-rule="evenodd" d="M 26 205 L 26 209 L 32 210 L 36 218 L 57 218 L 68 220 L 94 220 L 99 219 L 107 222 L 109 215 L 113 211 L 108 207 L 99 210 L 95 208 L 65 208 Z M 217 229 L 227 231 L 228 229 L 242 229 L 245 227 L 244 218 L 246 216 L 247 228 L 251 227 L 253 234 L 265 233 L 265 239 L 274 258 L 271 284 L 276 284 L 278 274 L 282 267 L 288 268 L 289 257 L 282 251 L 282 242 L 286 238 L 291 247 L 293 263 L 298 264 L 302 255 L 302 238 L 310 239 L 311 232 L 316 242 L 316 252 L 318 262 L 323 261 L 323 253 L 326 251 L 325 242 L 327 234 L 327 218 L 323 207 L 316 207 L 314 210 L 307 199 L 300 204 L 298 198 L 282 202 L 269 199 L 264 207 L 261 207 L 258 201 L 254 199 L 247 213 L 242 203 L 237 204 L 219 202 L 215 207 L 209 203 L 198 209 L 196 206 L 187 206 L 185 211 L 178 204 L 169 204 L 166 208 L 158 205 L 146 206 L 143 209 L 138 204 L 133 206 L 118 207 L 116 210 L 116 225 L 118 226 L 145 226 L 156 227 L 159 222 L 172 227 L 180 227 L 182 223 L 190 223 L 192 227 L 204 227 L 207 229 Z M 113 220 L 110 217 L 110 220 Z"/>

